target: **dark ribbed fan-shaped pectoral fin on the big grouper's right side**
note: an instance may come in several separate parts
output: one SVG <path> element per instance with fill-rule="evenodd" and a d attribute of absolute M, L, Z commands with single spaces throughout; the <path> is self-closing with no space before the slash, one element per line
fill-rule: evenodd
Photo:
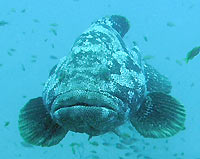
<path fill-rule="evenodd" d="M 148 138 L 170 137 L 183 130 L 185 110 L 175 98 L 162 92 L 147 95 L 139 110 L 132 114 L 131 123 Z"/>

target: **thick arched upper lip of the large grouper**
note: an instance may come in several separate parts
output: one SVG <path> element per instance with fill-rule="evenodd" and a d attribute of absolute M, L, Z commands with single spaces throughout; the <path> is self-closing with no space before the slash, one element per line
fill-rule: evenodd
<path fill-rule="evenodd" d="M 104 107 L 116 111 L 118 100 L 117 97 L 110 95 L 108 92 L 73 90 L 58 95 L 52 104 L 52 111 L 56 112 L 61 108 L 75 106 Z"/>

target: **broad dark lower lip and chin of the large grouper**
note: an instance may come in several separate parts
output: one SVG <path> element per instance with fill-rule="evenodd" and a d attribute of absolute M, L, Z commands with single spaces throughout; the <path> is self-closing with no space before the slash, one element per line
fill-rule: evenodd
<path fill-rule="evenodd" d="M 121 121 L 118 119 L 118 112 L 99 106 L 65 106 L 51 115 L 66 130 L 92 136 L 102 134 L 105 129 L 112 130 L 107 123 L 115 125 Z"/>

